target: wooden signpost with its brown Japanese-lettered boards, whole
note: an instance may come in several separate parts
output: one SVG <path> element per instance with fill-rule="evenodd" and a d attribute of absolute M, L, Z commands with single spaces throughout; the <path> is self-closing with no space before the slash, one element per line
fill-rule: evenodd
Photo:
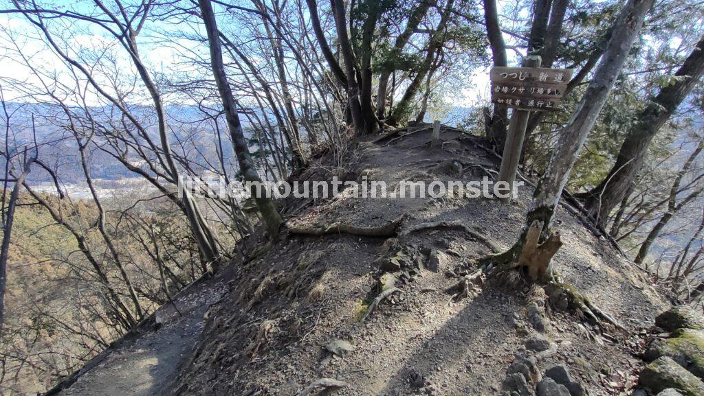
<path fill-rule="evenodd" d="M 560 111 L 560 99 L 572 70 L 540 68 L 540 56 L 527 56 L 523 68 L 491 69 L 491 101 L 513 108 L 503 146 L 498 181 L 513 187 L 531 111 Z M 509 203 L 510 197 L 501 198 Z"/>

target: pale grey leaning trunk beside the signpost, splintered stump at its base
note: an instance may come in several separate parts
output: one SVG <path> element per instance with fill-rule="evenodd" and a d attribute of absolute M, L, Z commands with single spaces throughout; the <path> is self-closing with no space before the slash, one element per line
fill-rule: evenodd
<path fill-rule="evenodd" d="M 654 0 L 629 0 L 619 15 L 615 34 L 609 41 L 603 59 L 599 64 L 592 82 L 586 89 L 586 94 L 577 106 L 577 112 L 560 134 L 555 145 L 555 150 L 548 164 L 548 168 L 541 177 L 536 191 L 532 208 L 529 210 L 526 226 L 517 243 L 498 257 L 500 261 L 516 260 L 521 256 L 527 242 L 529 231 L 536 224 L 541 226 L 540 241 L 552 241 L 553 234 L 550 226 L 555 213 L 555 207 L 560 202 L 562 190 L 565 188 L 567 178 L 574 162 L 577 161 L 579 151 L 586 140 L 586 136 L 596 122 L 596 117 L 603 108 L 608 95 L 613 88 L 621 68 L 628 58 L 631 46 L 639 35 L 643 19 Z M 559 238 L 559 237 L 558 237 Z M 547 278 L 552 276 L 551 263 L 543 272 Z M 541 279 L 546 280 L 546 279 Z"/>

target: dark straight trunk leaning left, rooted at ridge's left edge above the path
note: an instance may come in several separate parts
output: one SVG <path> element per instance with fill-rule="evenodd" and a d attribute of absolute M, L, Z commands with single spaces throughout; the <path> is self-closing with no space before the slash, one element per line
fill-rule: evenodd
<path fill-rule="evenodd" d="M 254 167 L 254 162 L 252 161 L 251 154 L 249 153 L 249 147 L 244 140 L 244 132 L 242 131 L 242 125 L 239 122 L 239 115 L 237 114 L 237 108 L 235 107 L 234 96 L 232 95 L 232 89 L 230 89 L 230 83 L 227 82 L 225 65 L 222 62 L 222 47 L 220 46 L 218 25 L 215 22 L 213 6 L 210 4 L 210 0 L 199 0 L 199 6 L 201 8 L 203 23 L 205 23 L 206 32 L 208 33 L 210 65 L 213 68 L 215 83 L 218 85 L 218 92 L 220 93 L 220 100 L 222 100 L 222 108 L 225 111 L 227 128 L 230 130 L 230 136 L 232 137 L 234 152 L 237 155 L 239 170 L 242 177 L 244 177 L 244 181 L 261 183 L 262 180 Z M 257 196 L 255 186 L 251 187 L 251 194 L 257 204 L 269 234 L 271 236 L 277 235 L 279 232 L 279 227 L 284 221 L 281 215 L 279 215 L 279 212 L 277 212 L 274 202 L 267 196 Z"/>

